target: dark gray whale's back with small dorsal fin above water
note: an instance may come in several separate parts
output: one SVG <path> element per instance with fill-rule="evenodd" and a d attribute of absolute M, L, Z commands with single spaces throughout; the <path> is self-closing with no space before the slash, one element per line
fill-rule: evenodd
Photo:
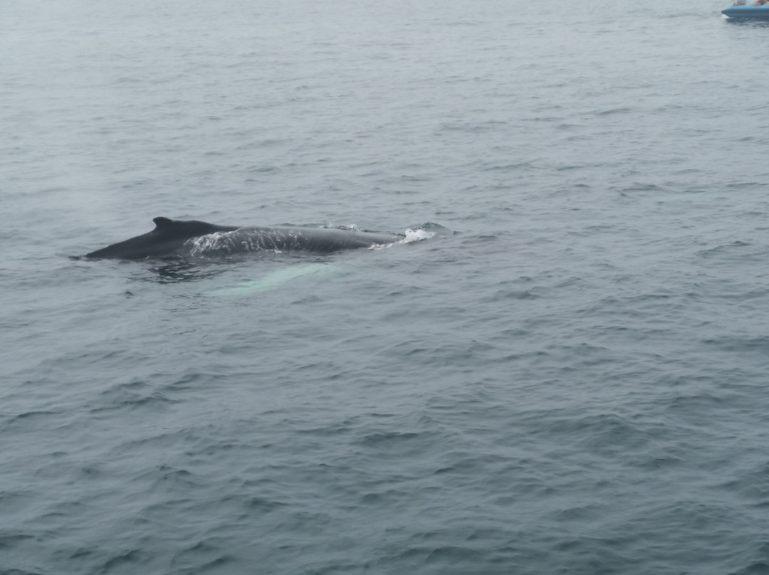
<path fill-rule="evenodd" d="M 184 254 L 186 242 L 216 232 L 238 231 L 243 238 L 230 242 L 230 250 L 244 251 L 308 251 L 331 254 L 335 251 L 369 248 L 374 244 L 390 244 L 397 236 L 368 231 L 348 231 L 334 228 L 248 228 L 221 226 L 196 220 L 155 218 L 155 229 L 135 238 L 118 241 L 101 250 L 85 254 L 85 258 L 129 259 L 168 258 Z"/>

